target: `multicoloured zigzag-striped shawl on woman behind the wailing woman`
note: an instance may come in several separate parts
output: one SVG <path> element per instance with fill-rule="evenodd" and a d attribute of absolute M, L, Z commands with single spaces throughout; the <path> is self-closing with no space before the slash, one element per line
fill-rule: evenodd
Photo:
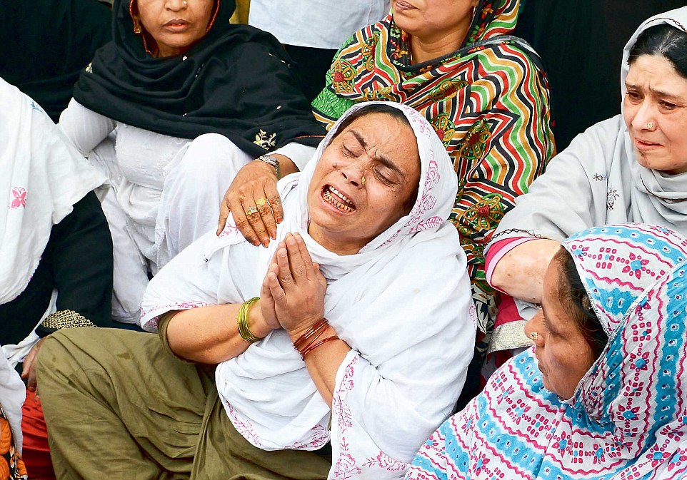
<path fill-rule="evenodd" d="M 483 247 L 555 151 L 541 61 L 508 35 L 519 4 L 482 0 L 461 48 L 416 65 L 411 37 L 389 14 L 344 44 L 313 102 L 316 118 L 328 127 L 354 103 L 389 100 L 413 106 L 436 130 L 458 175 L 450 220 L 461 234 L 478 327 L 486 334 L 478 342 L 480 354 L 488 347 L 498 302 L 486 282 Z"/>

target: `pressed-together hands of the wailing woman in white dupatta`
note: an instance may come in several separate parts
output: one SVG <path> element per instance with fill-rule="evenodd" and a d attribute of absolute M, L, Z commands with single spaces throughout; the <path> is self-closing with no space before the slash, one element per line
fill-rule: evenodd
<path fill-rule="evenodd" d="M 297 234 L 286 234 L 272 257 L 261 289 L 260 308 L 268 325 L 298 338 L 324 317 L 327 282 Z"/>

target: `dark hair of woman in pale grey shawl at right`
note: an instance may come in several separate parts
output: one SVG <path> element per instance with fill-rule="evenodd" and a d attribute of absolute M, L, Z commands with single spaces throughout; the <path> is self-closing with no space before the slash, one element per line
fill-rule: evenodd
<path fill-rule="evenodd" d="M 643 31 L 630 49 L 628 65 L 642 55 L 668 59 L 678 74 L 687 78 L 687 33 L 668 24 L 652 26 Z"/>

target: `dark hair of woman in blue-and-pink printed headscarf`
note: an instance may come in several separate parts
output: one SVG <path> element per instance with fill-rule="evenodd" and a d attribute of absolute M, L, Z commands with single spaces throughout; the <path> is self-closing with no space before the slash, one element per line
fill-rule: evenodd
<path fill-rule="evenodd" d="M 561 250 L 558 250 L 553 256 L 553 260 L 556 260 L 561 267 L 558 300 L 570 312 L 596 359 L 601 355 L 603 347 L 606 347 L 608 336 L 603 331 L 601 322 L 591 307 L 591 301 L 584 285 L 582 285 L 582 280 L 580 280 L 580 275 L 570 252 L 561 247 Z"/>

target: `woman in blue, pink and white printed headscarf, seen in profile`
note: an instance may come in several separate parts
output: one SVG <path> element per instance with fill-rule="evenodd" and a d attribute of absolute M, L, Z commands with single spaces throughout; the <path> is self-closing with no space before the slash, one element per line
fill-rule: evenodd
<path fill-rule="evenodd" d="M 591 228 L 546 271 L 535 346 L 426 441 L 407 479 L 681 479 L 687 238 Z"/>

